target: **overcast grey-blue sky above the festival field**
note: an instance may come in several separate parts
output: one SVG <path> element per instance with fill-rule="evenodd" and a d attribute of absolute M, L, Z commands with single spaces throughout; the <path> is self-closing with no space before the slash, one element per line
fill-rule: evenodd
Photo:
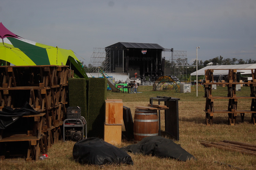
<path fill-rule="evenodd" d="M 2 0 L 0 22 L 25 39 L 71 49 L 86 65 L 93 48 L 118 42 L 187 51 L 190 64 L 198 46 L 202 61 L 256 60 L 256 0 Z"/>

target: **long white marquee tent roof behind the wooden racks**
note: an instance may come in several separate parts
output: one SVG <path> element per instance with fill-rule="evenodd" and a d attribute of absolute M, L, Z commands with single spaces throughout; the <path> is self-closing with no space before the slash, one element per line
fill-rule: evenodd
<path fill-rule="evenodd" d="M 206 66 L 197 72 L 193 72 L 190 75 L 204 75 L 204 70 L 207 69 L 237 69 L 237 72 L 241 74 L 252 74 L 251 70 L 241 70 L 241 69 L 256 69 L 256 64 L 239 64 L 239 65 L 218 65 L 218 66 Z M 226 75 L 228 70 L 214 70 L 213 75 Z"/>

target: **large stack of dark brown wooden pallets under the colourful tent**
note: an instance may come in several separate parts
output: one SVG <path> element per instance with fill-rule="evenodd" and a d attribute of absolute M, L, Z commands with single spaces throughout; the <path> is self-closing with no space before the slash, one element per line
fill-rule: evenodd
<path fill-rule="evenodd" d="M 60 126 L 66 115 L 68 78 L 72 75 L 68 66 L 1 66 L 0 109 L 6 106 L 20 108 L 28 102 L 42 114 L 31 115 L 32 121 L 26 118 L 20 122 L 20 126 L 31 124 L 31 127 L 36 127 L 37 133 L 33 129 L 25 134 L 20 129 L 0 130 L 0 143 L 28 141 L 26 160 L 37 160 L 40 152 L 47 152 L 61 134 Z M 10 135 L 12 138 L 8 138 Z M 3 157 L 5 153 L 1 154 Z"/>

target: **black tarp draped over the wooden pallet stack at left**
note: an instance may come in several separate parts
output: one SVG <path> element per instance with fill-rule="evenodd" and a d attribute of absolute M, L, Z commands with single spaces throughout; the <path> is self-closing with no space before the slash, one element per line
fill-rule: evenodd
<path fill-rule="evenodd" d="M 22 116 L 37 114 L 40 113 L 35 111 L 27 102 L 22 108 L 13 109 L 10 106 L 4 107 L 0 111 L 0 129 L 7 128 Z"/>

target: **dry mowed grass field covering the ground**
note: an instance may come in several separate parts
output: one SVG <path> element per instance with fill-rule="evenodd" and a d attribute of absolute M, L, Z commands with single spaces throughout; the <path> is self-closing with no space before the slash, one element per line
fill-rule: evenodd
<path fill-rule="evenodd" d="M 26 163 L 6 163 L 0 162 L 0 169 L 256 169 L 256 156 L 245 155 L 239 152 L 224 151 L 217 148 L 206 148 L 200 145 L 199 140 L 220 141 L 234 140 L 246 142 L 256 145 L 256 125 L 251 122 L 251 114 L 245 114 L 244 122 L 241 122 L 240 115 L 237 116 L 236 125 L 228 125 L 227 114 L 215 114 L 213 125 L 205 125 L 205 98 L 204 91 L 198 92 L 196 97 L 195 89 L 191 93 L 179 93 L 174 89 L 166 91 L 153 91 L 152 86 L 139 86 L 138 94 L 122 94 L 116 92 L 107 93 L 108 99 L 122 99 L 124 106 L 131 108 L 134 116 L 136 106 L 146 106 L 150 97 L 168 96 L 179 98 L 179 130 L 180 140 L 175 143 L 181 145 L 186 151 L 194 155 L 197 160 L 188 160 L 180 162 L 169 158 L 158 158 L 148 155 L 134 155 L 129 153 L 134 162 L 133 166 L 129 165 L 80 165 L 76 163 L 72 156 L 72 149 L 75 142 L 58 141 L 48 151 L 49 157 L 38 162 Z M 250 87 L 241 87 L 241 91 L 237 91 L 237 96 L 250 96 Z M 227 87 L 217 87 L 213 90 L 213 96 L 226 96 Z M 156 103 L 157 104 L 157 103 Z M 163 104 L 163 103 L 162 103 Z M 217 109 L 227 109 L 227 100 L 215 100 Z M 238 109 L 250 110 L 251 100 L 238 100 Z M 164 137 L 169 138 L 164 133 L 164 112 L 161 112 L 161 130 Z M 123 128 L 124 130 L 124 128 Z M 131 145 L 132 141 L 122 140 L 123 147 Z M 222 164 L 222 165 L 221 165 Z"/>

